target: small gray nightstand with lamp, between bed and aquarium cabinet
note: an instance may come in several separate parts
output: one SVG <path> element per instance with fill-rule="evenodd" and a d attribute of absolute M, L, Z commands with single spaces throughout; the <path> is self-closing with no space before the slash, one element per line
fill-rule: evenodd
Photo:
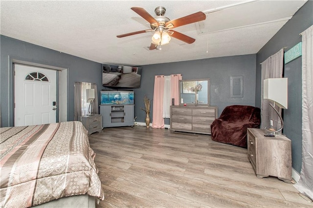
<path fill-rule="evenodd" d="M 82 115 L 80 116 L 81 122 L 88 131 L 88 135 L 94 132 L 102 132 L 102 115 Z"/>

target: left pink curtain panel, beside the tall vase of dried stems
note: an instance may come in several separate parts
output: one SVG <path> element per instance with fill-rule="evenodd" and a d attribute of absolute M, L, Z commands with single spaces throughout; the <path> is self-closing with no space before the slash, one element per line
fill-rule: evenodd
<path fill-rule="evenodd" d="M 153 92 L 152 128 L 164 128 L 163 112 L 164 76 L 155 76 L 155 89 Z"/>

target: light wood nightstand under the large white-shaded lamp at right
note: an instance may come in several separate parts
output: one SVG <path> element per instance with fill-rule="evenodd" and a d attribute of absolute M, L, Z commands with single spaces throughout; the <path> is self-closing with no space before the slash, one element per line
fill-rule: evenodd
<path fill-rule="evenodd" d="M 258 178 L 275 176 L 291 183 L 291 140 L 264 136 L 262 129 L 247 129 L 248 159 Z"/>

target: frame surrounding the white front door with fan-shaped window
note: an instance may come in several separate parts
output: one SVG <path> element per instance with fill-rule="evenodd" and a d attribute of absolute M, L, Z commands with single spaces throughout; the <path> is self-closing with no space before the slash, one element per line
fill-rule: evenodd
<path fill-rule="evenodd" d="M 57 70 L 57 100 L 58 100 L 58 112 L 57 112 L 57 122 L 68 121 L 69 106 L 68 101 L 68 68 L 62 68 L 58 66 L 51 66 L 46 63 L 34 62 L 34 60 L 27 60 L 20 57 L 8 57 L 9 67 L 8 67 L 8 123 L 9 126 L 14 126 L 14 67 L 13 64 L 21 64 L 31 67 L 40 67 L 45 69 Z"/>

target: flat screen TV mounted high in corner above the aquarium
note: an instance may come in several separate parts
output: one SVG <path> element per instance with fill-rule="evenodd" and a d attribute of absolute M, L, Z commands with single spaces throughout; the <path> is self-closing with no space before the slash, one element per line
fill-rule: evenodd
<path fill-rule="evenodd" d="M 141 67 L 103 64 L 102 85 L 105 87 L 139 88 Z"/>

